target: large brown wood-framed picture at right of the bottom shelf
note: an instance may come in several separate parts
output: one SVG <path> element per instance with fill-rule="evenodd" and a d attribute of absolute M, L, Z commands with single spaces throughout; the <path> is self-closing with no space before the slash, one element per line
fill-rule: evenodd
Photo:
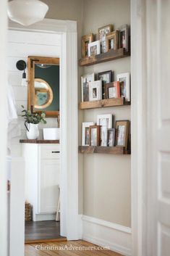
<path fill-rule="evenodd" d="M 124 137 L 122 138 L 121 145 L 118 143 L 120 139 L 119 126 L 124 126 Z M 125 150 L 127 150 L 128 138 L 129 138 L 129 120 L 116 120 L 116 146 L 124 146 Z"/>

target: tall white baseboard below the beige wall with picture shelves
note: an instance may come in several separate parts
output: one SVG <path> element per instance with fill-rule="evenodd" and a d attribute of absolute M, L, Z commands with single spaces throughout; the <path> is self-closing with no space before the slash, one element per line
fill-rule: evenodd
<path fill-rule="evenodd" d="M 82 239 L 122 255 L 132 255 L 131 228 L 125 226 L 82 215 Z"/>

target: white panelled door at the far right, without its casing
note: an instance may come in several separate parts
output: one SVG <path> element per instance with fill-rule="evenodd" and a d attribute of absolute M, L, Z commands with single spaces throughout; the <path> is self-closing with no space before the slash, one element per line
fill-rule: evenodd
<path fill-rule="evenodd" d="M 170 1 L 146 1 L 148 255 L 170 255 Z"/>

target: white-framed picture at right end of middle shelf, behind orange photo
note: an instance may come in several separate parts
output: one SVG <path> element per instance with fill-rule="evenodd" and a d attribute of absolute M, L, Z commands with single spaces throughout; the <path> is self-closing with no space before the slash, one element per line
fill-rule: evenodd
<path fill-rule="evenodd" d="M 129 73 L 118 74 L 117 81 L 123 82 L 120 85 L 121 97 L 124 97 L 126 102 L 130 102 L 130 74 Z"/>

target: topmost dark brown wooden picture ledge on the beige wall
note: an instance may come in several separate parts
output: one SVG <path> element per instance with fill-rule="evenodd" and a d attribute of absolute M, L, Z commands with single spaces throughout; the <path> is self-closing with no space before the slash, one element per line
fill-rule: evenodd
<path fill-rule="evenodd" d="M 80 66 L 90 66 L 94 64 L 98 64 L 101 62 L 108 62 L 109 60 L 113 59 L 122 59 L 124 57 L 129 57 L 129 51 L 125 51 L 125 49 L 120 48 L 117 50 L 111 49 L 103 54 L 98 54 L 91 57 L 85 57 L 84 59 L 79 60 Z"/>

